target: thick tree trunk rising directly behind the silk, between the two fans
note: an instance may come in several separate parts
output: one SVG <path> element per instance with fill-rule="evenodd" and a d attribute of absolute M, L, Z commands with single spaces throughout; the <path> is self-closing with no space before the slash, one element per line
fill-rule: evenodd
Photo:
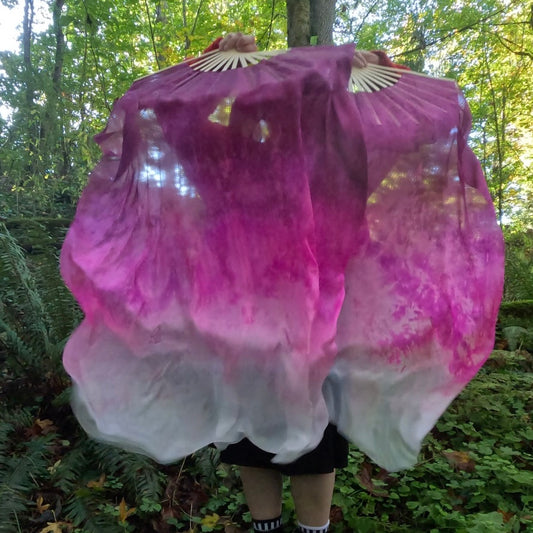
<path fill-rule="evenodd" d="M 287 0 L 289 47 L 333 44 L 335 0 Z"/>

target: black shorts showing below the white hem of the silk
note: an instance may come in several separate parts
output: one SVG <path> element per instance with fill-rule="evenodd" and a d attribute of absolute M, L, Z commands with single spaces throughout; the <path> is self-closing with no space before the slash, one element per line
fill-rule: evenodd
<path fill-rule="evenodd" d="M 288 464 L 273 463 L 271 460 L 274 455 L 261 450 L 248 439 L 243 439 L 223 450 L 220 460 L 238 466 L 277 470 L 286 476 L 329 474 L 348 464 L 348 441 L 339 435 L 334 425 L 329 424 L 318 446 L 296 461 Z"/>

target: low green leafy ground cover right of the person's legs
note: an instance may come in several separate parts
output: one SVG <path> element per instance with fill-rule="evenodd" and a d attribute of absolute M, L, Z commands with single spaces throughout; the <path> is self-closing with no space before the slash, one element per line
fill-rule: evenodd
<path fill-rule="evenodd" d="M 334 499 L 351 530 L 532 531 L 532 372 L 531 354 L 494 352 L 412 470 L 389 474 L 352 452 Z"/>

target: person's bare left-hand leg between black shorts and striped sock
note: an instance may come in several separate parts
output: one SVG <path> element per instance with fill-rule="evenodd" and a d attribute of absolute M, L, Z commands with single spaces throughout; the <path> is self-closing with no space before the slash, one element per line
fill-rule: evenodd
<path fill-rule="evenodd" d="M 246 503 L 254 520 L 271 520 L 281 515 L 281 474 L 267 468 L 239 467 Z"/>

